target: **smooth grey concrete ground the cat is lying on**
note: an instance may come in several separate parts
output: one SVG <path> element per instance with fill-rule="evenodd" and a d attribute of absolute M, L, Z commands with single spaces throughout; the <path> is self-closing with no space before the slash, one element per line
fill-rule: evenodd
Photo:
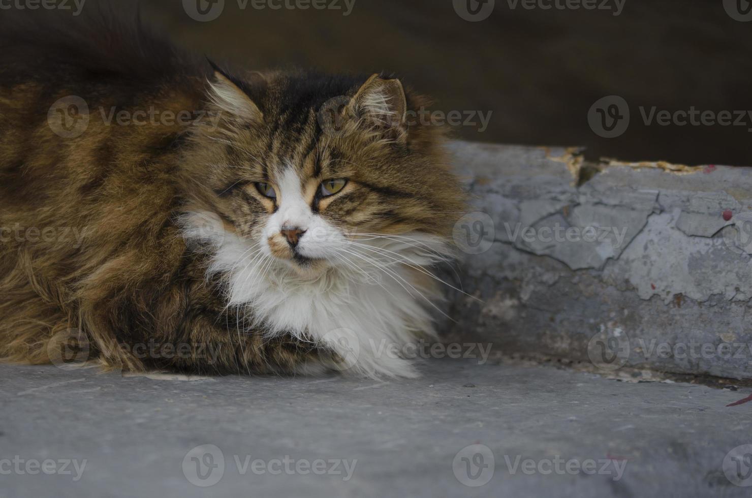
<path fill-rule="evenodd" d="M 752 446 L 737 448 L 752 444 L 752 403 L 726 406 L 747 390 L 468 360 L 422 370 L 0 366 L 0 496 L 752 495 L 736 485 L 752 484 Z"/>

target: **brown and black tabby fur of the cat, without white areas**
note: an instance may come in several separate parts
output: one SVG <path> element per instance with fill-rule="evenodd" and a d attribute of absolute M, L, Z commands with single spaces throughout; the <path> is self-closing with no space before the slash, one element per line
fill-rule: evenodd
<path fill-rule="evenodd" d="M 68 329 L 85 335 L 91 358 L 135 371 L 296 372 L 329 357 L 292 337 L 236 334 L 222 276 L 207 277 L 208 254 L 186 244 L 177 223 L 186 211 L 211 211 L 231 232 L 253 236 L 274 210 L 254 182 L 274 181 L 281 164 L 300 169 L 311 202 L 343 230 L 450 234 L 462 193 L 448 171 L 441 129 L 385 124 L 359 102 L 368 85 L 397 95 L 398 80 L 231 75 L 135 23 L 78 23 L 26 31 L 0 24 L 2 359 L 48 363 L 56 347 L 50 341 Z M 208 82 L 234 88 L 259 114 L 217 102 Z M 428 104 L 406 95 L 408 109 Z M 65 96 L 89 107 L 89 124 L 74 138 L 48 122 L 50 106 Z M 350 98 L 350 131 L 341 136 L 320 122 L 322 106 L 338 96 Z M 108 124 L 100 111 L 151 108 L 162 116 L 188 111 L 192 124 Z M 333 177 L 350 178 L 346 190 L 315 199 L 320 180 Z M 18 227 L 20 240 L 8 237 Z M 291 257 L 285 244 L 278 251 Z M 134 354 L 134 345 L 148 342 L 189 350 Z"/>

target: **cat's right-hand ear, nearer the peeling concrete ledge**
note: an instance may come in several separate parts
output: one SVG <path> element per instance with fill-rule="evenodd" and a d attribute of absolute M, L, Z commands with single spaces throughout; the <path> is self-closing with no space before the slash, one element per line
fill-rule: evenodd
<path fill-rule="evenodd" d="M 352 106 L 354 113 L 371 126 L 397 132 L 399 136 L 407 131 L 408 102 L 400 80 L 372 75 L 353 97 Z"/>

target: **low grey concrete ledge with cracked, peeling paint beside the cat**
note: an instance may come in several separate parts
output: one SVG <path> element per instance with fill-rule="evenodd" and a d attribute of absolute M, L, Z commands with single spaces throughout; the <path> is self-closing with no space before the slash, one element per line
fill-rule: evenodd
<path fill-rule="evenodd" d="M 476 213 L 447 332 L 494 351 L 752 378 L 752 171 L 453 144 Z"/>

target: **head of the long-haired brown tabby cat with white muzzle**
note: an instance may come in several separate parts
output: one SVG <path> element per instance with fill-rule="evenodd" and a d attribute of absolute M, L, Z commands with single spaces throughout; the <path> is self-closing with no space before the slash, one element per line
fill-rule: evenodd
<path fill-rule="evenodd" d="M 440 130 L 405 123 L 422 101 L 399 80 L 276 76 L 250 90 L 216 78 L 222 116 L 197 135 L 190 175 L 247 241 L 248 265 L 315 277 L 445 250 L 462 190 Z"/>

